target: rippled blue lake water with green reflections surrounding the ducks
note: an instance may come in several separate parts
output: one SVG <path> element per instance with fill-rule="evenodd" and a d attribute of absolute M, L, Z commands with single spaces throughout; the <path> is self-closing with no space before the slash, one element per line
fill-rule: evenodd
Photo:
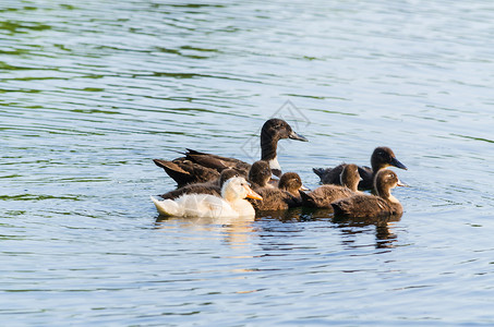
<path fill-rule="evenodd" d="M 9 326 L 494 325 L 492 1 L 0 0 Z M 288 102 L 287 102 L 288 101 Z M 409 170 L 395 221 L 161 219 L 185 147 Z M 252 146 L 254 144 L 254 146 Z"/>

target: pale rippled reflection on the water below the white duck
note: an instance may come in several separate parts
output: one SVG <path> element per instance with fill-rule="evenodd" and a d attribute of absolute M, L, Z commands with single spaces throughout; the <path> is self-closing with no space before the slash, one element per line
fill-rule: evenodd
<path fill-rule="evenodd" d="M 207 231 L 209 237 L 222 239 L 231 247 L 249 246 L 255 230 L 252 226 L 254 217 L 218 217 L 218 218 L 183 218 L 158 216 L 155 228 L 179 231 L 188 229 L 192 232 Z"/>

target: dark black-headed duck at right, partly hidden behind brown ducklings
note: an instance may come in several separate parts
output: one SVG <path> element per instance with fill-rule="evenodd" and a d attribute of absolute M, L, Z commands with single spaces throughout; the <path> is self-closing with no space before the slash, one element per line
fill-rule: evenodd
<path fill-rule="evenodd" d="M 334 168 L 313 168 L 312 170 L 321 178 L 321 183 L 341 185 L 341 180 L 339 177 L 345 166 L 347 165 L 348 164 L 341 164 Z M 408 170 L 408 168 L 396 158 L 395 153 L 389 147 L 376 147 L 371 156 L 372 168 L 369 168 L 366 166 L 359 167 L 359 174 L 362 178 L 359 183 L 359 189 L 372 190 L 376 173 L 381 169 L 389 166 Z"/>

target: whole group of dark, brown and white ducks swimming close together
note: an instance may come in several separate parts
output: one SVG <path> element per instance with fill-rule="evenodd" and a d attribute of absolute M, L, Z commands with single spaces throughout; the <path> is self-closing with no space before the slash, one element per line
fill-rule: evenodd
<path fill-rule="evenodd" d="M 254 217 L 255 211 L 292 207 L 329 208 L 345 217 L 401 215 L 403 208 L 390 190 L 405 186 L 386 169 L 407 169 L 388 147 L 379 146 L 371 156 L 371 167 L 341 164 L 313 168 L 320 187 L 310 191 L 296 172 L 281 172 L 277 159 L 278 141 L 308 142 L 281 119 L 267 120 L 261 130 L 261 160 L 250 165 L 239 159 L 186 149 L 171 161 L 154 159 L 178 187 L 153 197 L 159 214 L 197 218 Z M 359 190 L 371 190 L 373 194 Z"/>

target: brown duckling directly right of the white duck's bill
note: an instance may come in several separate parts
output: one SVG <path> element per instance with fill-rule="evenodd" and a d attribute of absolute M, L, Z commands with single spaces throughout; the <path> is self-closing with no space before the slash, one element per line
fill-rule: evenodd
<path fill-rule="evenodd" d="M 298 207 L 302 204 L 301 191 L 306 190 L 297 172 L 286 172 L 278 182 L 278 187 L 266 185 L 254 189 L 263 199 L 249 199 L 255 210 L 276 211 Z"/>

